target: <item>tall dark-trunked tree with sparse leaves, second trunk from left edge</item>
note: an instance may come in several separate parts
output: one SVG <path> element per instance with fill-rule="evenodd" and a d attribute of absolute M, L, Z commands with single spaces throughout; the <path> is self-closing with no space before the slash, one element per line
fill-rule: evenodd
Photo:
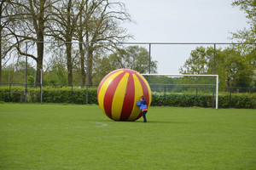
<path fill-rule="evenodd" d="M 13 0 L 9 3 L 15 6 L 17 14 L 13 17 L 9 31 L 15 36 L 15 48 L 21 55 L 26 55 L 24 42 L 27 40 L 36 42 L 37 56 L 28 54 L 28 57 L 37 62 L 36 83 L 40 83 L 40 73 L 44 61 L 44 36 L 47 31 L 49 10 L 58 0 Z M 22 46 L 23 44 L 23 46 Z"/>

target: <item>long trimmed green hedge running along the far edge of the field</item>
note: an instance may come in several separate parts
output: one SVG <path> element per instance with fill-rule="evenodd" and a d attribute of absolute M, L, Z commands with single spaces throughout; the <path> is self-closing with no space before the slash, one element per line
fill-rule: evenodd
<path fill-rule="evenodd" d="M 0 87 L 0 100 L 5 102 L 24 102 L 25 88 L 11 87 L 11 96 L 9 87 Z M 97 104 L 97 89 L 89 88 L 88 103 Z M 26 101 L 30 103 L 40 102 L 40 88 L 28 88 Z M 86 88 L 43 88 L 44 103 L 86 103 Z M 177 107 L 212 107 L 212 95 L 206 94 L 174 94 L 174 93 L 153 93 L 151 105 L 170 105 Z M 220 94 L 218 96 L 219 108 L 251 108 L 256 109 L 256 94 Z"/>

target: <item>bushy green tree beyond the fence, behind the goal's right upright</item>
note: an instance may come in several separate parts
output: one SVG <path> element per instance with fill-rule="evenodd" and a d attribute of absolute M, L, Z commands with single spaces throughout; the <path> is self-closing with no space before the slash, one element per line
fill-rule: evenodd
<path fill-rule="evenodd" d="M 190 53 L 180 68 L 182 74 L 212 74 L 213 71 L 212 47 L 197 47 Z M 253 65 L 236 48 L 216 49 L 216 74 L 220 78 L 220 87 L 249 87 L 253 81 Z"/>

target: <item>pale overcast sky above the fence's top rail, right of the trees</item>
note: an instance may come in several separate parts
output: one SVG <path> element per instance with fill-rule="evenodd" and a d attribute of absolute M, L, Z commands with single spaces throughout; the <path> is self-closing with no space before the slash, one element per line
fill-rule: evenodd
<path fill-rule="evenodd" d="M 132 42 L 231 42 L 230 31 L 247 26 L 232 0 L 121 1 L 137 22 L 125 25 Z"/>

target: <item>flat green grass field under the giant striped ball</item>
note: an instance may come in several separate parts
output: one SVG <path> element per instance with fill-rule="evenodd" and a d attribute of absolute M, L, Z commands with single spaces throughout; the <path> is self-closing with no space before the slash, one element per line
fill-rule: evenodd
<path fill-rule="evenodd" d="M 0 169 L 256 169 L 256 110 L 0 104 Z"/>

